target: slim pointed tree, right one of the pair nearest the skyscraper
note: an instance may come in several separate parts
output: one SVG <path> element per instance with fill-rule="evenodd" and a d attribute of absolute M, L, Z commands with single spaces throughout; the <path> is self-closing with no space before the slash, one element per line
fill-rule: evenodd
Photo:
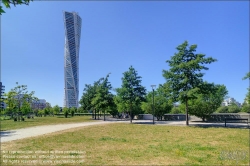
<path fill-rule="evenodd" d="M 109 73 L 110 74 L 110 73 Z M 99 86 L 96 87 L 96 93 L 91 104 L 94 106 L 98 112 L 100 110 L 104 111 L 104 120 L 105 120 L 105 111 L 108 109 L 110 105 L 113 104 L 113 95 L 110 90 L 112 86 L 108 81 L 109 74 L 105 77 L 105 79 L 101 79 Z"/>

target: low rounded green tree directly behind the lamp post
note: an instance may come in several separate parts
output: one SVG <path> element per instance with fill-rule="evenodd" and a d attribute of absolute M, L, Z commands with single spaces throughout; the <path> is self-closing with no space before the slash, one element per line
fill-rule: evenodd
<path fill-rule="evenodd" d="M 146 96 L 146 102 L 142 102 L 142 110 L 146 113 L 153 114 L 153 107 L 155 109 L 154 116 L 158 120 L 162 120 L 162 116 L 166 113 L 169 113 L 172 109 L 172 102 L 169 99 L 169 96 L 164 92 L 164 88 L 160 85 L 154 94 L 154 106 L 153 106 L 153 92 L 149 92 Z"/>

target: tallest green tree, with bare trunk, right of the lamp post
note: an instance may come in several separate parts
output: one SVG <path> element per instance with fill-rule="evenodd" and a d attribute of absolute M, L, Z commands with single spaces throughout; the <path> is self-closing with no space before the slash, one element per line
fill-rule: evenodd
<path fill-rule="evenodd" d="M 188 42 L 185 41 L 176 49 L 170 60 L 169 70 L 163 70 L 163 77 L 166 79 L 166 87 L 172 96 L 173 102 L 181 101 L 186 106 L 186 125 L 188 123 L 188 101 L 196 98 L 194 95 L 202 87 L 202 77 L 204 73 L 201 70 L 208 70 L 204 64 L 215 62 L 212 57 L 205 58 L 204 54 L 195 54 L 197 45 L 188 47 Z"/>

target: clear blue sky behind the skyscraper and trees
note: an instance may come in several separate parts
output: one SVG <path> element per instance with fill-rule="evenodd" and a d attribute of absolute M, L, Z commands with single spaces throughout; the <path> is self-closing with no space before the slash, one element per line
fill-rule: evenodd
<path fill-rule="evenodd" d="M 5 9 L 5 8 L 4 8 Z M 249 2 L 247 1 L 53 1 L 5 9 L 1 17 L 1 69 L 5 91 L 27 85 L 52 106 L 63 106 L 64 23 L 62 11 L 82 18 L 79 95 L 109 72 L 113 88 L 132 65 L 142 85 L 163 84 L 166 60 L 185 40 L 196 53 L 218 61 L 204 80 L 224 84 L 243 102 L 249 82 Z"/>

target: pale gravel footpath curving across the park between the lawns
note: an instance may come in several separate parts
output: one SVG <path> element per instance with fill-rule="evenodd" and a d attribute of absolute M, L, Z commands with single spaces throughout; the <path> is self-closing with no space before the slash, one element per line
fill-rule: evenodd
<path fill-rule="evenodd" d="M 0 132 L 1 143 L 14 141 L 18 139 L 35 137 L 39 135 L 49 134 L 57 131 L 67 130 L 71 128 L 83 127 L 83 126 L 92 126 L 92 125 L 101 125 L 109 123 L 130 123 L 130 121 L 98 121 L 98 122 L 82 122 L 82 123 L 68 123 L 68 124 L 56 124 L 56 125 L 43 125 L 28 127 L 17 130 L 8 130 Z M 171 126 L 186 126 L 185 121 L 155 121 L 156 125 L 171 125 Z M 152 124 L 151 120 L 133 120 L 133 124 Z M 224 127 L 225 123 L 202 123 L 202 122 L 189 122 L 190 126 L 197 127 Z M 227 127 L 233 128 L 249 128 L 248 124 L 235 123 L 227 124 Z"/>

